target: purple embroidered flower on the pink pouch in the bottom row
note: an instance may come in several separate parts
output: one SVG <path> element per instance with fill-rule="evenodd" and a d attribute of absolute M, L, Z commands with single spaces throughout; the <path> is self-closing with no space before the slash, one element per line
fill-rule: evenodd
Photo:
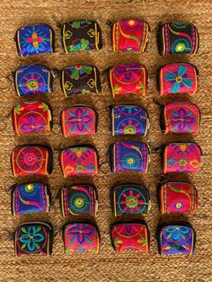
<path fill-rule="evenodd" d="M 71 235 L 71 243 L 76 241 L 80 245 L 83 245 L 84 243 L 89 244 L 92 242 L 93 228 L 88 225 L 75 224 L 69 229 L 68 233 Z"/>

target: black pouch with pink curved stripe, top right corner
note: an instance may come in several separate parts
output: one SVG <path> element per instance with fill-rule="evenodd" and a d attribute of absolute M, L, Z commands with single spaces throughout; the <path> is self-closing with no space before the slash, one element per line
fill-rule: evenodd
<path fill-rule="evenodd" d="M 167 22 L 159 26 L 157 44 L 159 54 L 191 54 L 198 52 L 199 33 L 189 22 Z"/>

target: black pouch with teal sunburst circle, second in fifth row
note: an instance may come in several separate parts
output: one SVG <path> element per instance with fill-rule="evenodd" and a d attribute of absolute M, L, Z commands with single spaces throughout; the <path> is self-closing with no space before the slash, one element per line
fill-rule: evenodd
<path fill-rule="evenodd" d="M 62 216 L 96 216 L 98 211 L 98 194 L 93 185 L 75 185 L 64 187 L 59 191 Z"/>

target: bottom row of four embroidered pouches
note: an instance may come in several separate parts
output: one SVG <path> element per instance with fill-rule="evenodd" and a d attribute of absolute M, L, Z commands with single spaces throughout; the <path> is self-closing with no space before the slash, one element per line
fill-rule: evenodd
<path fill-rule="evenodd" d="M 74 252 L 99 253 L 101 236 L 94 221 L 75 220 L 62 227 L 66 254 Z M 158 250 L 161 255 L 193 254 L 196 232 L 186 222 L 161 224 L 157 228 Z M 19 225 L 14 234 L 15 255 L 49 256 L 52 253 L 53 227 L 46 222 L 27 222 Z M 110 241 L 114 251 L 149 253 L 150 234 L 142 220 L 122 220 L 110 225 Z"/>

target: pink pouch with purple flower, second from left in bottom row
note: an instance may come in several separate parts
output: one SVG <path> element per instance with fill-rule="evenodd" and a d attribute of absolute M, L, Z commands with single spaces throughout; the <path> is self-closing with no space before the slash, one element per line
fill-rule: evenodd
<path fill-rule="evenodd" d="M 100 231 L 92 221 L 74 221 L 63 226 L 64 248 L 73 252 L 100 252 Z"/>

